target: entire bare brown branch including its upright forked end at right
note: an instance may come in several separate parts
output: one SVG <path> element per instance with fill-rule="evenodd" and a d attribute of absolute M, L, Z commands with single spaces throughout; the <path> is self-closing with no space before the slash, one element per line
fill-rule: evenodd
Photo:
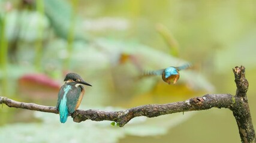
<path fill-rule="evenodd" d="M 157 117 L 164 114 L 185 111 L 207 110 L 213 107 L 229 108 L 233 111 L 233 115 L 236 119 L 241 141 L 255 142 L 255 131 L 246 97 L 248 81 L 245 79 L 245 67 L 235 67 L 233 72 L 237 85 L 235 96 L 231 94 L 206 94 L 203 97 L 190 98 L 182 102 L 141 105 L 122 111 L 76 110 L 71 114 L 71 117 L 73 117 L 74 122 L 82 122 L 88 119 L 94 121 L 110 120 L 119 123 L 119 126 L 122 127 L 127 124 L 129 120 L 138 116 Z M 58 114 L 58 110 L 56 110 L 55 107 L 17 102 L 7 97 L 0 97 L 0 104 L 6 104 L 8 107 Z"/>

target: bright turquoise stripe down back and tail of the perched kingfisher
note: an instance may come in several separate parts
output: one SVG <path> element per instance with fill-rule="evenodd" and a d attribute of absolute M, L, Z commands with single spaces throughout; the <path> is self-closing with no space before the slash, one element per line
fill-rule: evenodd
<path fill-rule="evenodd" d="M 59 104 L 59 120 L 61 123 L 65 123 L 68 119 L 68 106 L 67 106 L 67 93 L 70 91 L 71 85 L 67 85 L 64 88 L 64 95 Z"/>

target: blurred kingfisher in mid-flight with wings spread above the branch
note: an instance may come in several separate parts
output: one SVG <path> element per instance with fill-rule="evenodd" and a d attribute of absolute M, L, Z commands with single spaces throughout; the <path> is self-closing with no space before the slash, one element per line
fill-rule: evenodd
<path fill-rule="evenodd" d="M 162 75 L 162 80 L 164 80 L 164 82 L 167 82 L 170 85 L 175 84 L 177 80 L 179 80 L 179 71 L 188 69 L 188 67 L 191 67 L 191 65 L 184 64 L 180 67 L 167 67 L 166 69 L 147 71 L 145 75 Z"/>

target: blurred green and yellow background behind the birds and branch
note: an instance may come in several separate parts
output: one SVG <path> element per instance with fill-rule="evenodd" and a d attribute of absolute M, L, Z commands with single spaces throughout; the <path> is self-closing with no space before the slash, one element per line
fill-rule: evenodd
<path fill-rule="evenodd" d="M 243 65 L 256 123 L 256 1 L 0 1 L 0 96 L 55 106 L 66 73 L 92 84 L 80 109 L 118 111 L 143 104 L 236 93 Z M 192 63 L 176 85 L 145 70 Z M 0 109 L 4 142 L 240 142 L 227 109 L 61 124 L 59 116 Z"/>

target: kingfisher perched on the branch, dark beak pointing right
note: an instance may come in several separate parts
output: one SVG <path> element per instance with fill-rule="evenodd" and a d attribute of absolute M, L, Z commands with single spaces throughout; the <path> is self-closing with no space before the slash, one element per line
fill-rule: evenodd
<path fill-rule="evenodd" d="M 65 123 L 68 116 L 79 107 L 83 95 L 85 94 L 85 88 L 83 88 L 82 85 L 92 86 L 76 73 L 68 73 L 64 82 L 64 85 L 59 89 L 58 102 L 56 105 L 61 123 Z"/>

